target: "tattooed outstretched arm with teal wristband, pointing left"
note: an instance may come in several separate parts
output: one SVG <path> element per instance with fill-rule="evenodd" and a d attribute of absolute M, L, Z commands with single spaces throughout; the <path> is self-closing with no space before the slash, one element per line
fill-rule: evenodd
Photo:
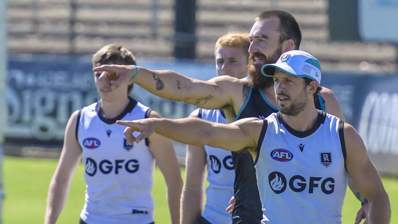
<path fill-rule="evenodd" d="M 127 65 L 101 65 L 93 71 L 103 71 L 99 78 L 103 86 L 117 88 L 121 83 L 129 81 L 136 74 L 137 69 Z M 242 98 L 239 94 L 242 94 L 243 81 L 227 75 L 201 81 L 170 70 L 155 71 L 139 67 L 139 73 L 133 81 L 156 96 L 185 101 L 205 109 L 234 106 L 235 95 Z M 240 106 L 237 105 L 238 108 Z"/>

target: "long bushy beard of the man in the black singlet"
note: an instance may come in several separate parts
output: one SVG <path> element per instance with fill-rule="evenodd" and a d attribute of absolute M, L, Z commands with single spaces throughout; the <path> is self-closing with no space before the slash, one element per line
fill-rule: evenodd
<path fill-rule="evenodd" d="M 261 73 L 261 68 L 267 64 L 276 63 L 281 57 L 282 48 L 279 47 L 271 57 L 265 57 L 262 53 L 255 52 L 249 55 L 248 77 L 250 78 L 249 86 L 253 88 L 263 89 L 271 87 L 273 83 L 272 77 L 266 77 Z M 264 61 L 264 65 L 254 65 L 254 57 L 258 57 Z"/>

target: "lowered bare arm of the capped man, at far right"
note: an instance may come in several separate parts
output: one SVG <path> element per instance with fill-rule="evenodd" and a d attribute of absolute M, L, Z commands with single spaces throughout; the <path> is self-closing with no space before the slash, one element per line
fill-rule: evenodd
<path fill-rule="evenodd" d="M 361 136 L 351 125 L 344 124 L 344 140 L 347 152 L 345 160 L 347 172 L 361 193 L 369 200 L 369 222 L 389 223 L 390 201 L 380 176 L 369 159 Z"/>

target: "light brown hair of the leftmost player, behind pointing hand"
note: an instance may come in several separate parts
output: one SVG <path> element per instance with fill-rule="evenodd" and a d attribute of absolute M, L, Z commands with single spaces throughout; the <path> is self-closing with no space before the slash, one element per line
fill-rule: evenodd
<path fill-rule="evenodd" d="M 135 56 L 127 48 L 108 44 L 98 50 L 92 58 L 93 68 L 101 65 L 137 65 Z M 134 84 L 134 83 L 133 83 Z M 127 88 L 127 94 L 130 95 L 133 90 L 133 84 Z"/>

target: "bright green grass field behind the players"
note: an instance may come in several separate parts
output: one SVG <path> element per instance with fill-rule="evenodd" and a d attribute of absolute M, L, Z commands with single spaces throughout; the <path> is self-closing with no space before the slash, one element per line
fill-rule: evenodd
<path fill-rule="evenodd" d="M 28 159 L 5 157 L 3 163 L 4 191 L 6 198 L 3 202 L 3 224 L 42 224 L 44 220 L 47 190 L 58 160 Z M 181 175 L 185 170 L 181 169 Z M 80 164 L 74 175 L 72 186 L 65 207 L 62 210 L 59 224 L 78 223 L 80 211 L 84 204 L 84 168 Z M 392 220 L 398 223 L 398 180 L 382 179 L 390 196 Z M 166 186 L 160 170 L 154 173 L 153 195 L 155 199 L 155 223 L 170 223 L 166 202 Z M 360 203 L 351 192 L 343 206 L 343 224 L 354 223 Z"/>

